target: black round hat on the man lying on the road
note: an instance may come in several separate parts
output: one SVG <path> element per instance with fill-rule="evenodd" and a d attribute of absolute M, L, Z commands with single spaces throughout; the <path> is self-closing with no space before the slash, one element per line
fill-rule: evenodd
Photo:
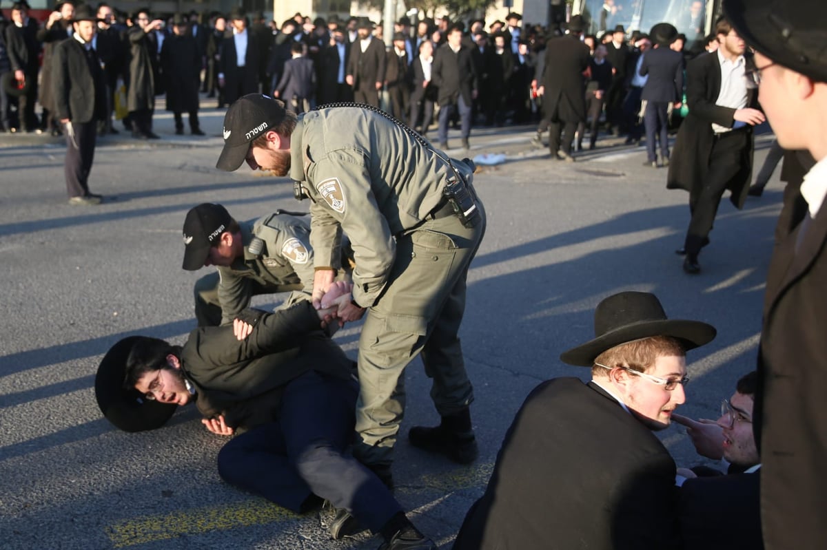
<path fill-rule="evenodd" d="M 127 358 L 140 338 L 129 336 L 109 348 L 95 375 L 98 407 L 106 420 L 125 432 L 160 428 L 178 408 L 178 405 L 148 401 L 138 391 L 123 387 Z"/>

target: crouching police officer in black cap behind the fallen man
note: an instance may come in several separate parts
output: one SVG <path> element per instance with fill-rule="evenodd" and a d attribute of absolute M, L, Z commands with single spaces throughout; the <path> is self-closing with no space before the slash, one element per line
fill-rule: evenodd
<path fill-rule="evenodd" d="M 295 292 L 292 303 L 313 292 L 313 249 L 306 216 L 275 211 L 237 222 L 223 206 L 195 206 L 184 220 L 184 269 L 214 265 L 195 283 L 198 326 L 232 322 L 252 296 Z M 338 259 L 336 260 L 338 261 Z"/>

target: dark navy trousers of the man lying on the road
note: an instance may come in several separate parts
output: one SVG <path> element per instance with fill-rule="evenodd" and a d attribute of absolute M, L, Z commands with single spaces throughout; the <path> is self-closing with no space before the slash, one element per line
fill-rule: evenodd
<path fill-rule="evenodd" d="M 387 487 L 348 453 L 358 385 L 305 372 L 284 386 L 279 420 L 238 435 L 218 453 L 228 483 L 294 512 L 310 495 L 351 510 L 378 532 L 402 507 Z"/>

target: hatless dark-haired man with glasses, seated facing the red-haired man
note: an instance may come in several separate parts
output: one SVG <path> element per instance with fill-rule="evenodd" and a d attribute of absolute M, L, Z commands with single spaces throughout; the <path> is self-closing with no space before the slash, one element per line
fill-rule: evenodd
<path fill-rule="evenodd" d="M 753 475 L 761 467 L 753 435 L 757 386 L 758 372 L 742 377 L 729 401 L 724 399 L 721 403 L 718 420 L 696 421 L 686 416 L 672 416 L 678 424 L 686 426 L 698 454 L 729 462 L 727 475 L 705 467 L 678 470 L 681 484 L 678 518 L 684 550 L 763 548 L 759 477 Z"/>

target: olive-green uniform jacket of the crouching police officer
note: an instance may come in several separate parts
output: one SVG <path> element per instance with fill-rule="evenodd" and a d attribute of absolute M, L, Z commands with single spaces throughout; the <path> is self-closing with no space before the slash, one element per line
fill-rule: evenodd
<path fill-rule="evenodd" d="M 244 221 L 241 242 L 244 258 L 232 266 L 218 267 L 218 301 L 222 325 L 232 322 L 250 306 L 253 284 L 272 288 L 272 292 L 301 290 L 313 292 L 313 249 L 310 247 L 309 220 L 283 211 Z M 264 241 L 261 254 L 251 254 L 248 247 L 258 237 Z"/>

